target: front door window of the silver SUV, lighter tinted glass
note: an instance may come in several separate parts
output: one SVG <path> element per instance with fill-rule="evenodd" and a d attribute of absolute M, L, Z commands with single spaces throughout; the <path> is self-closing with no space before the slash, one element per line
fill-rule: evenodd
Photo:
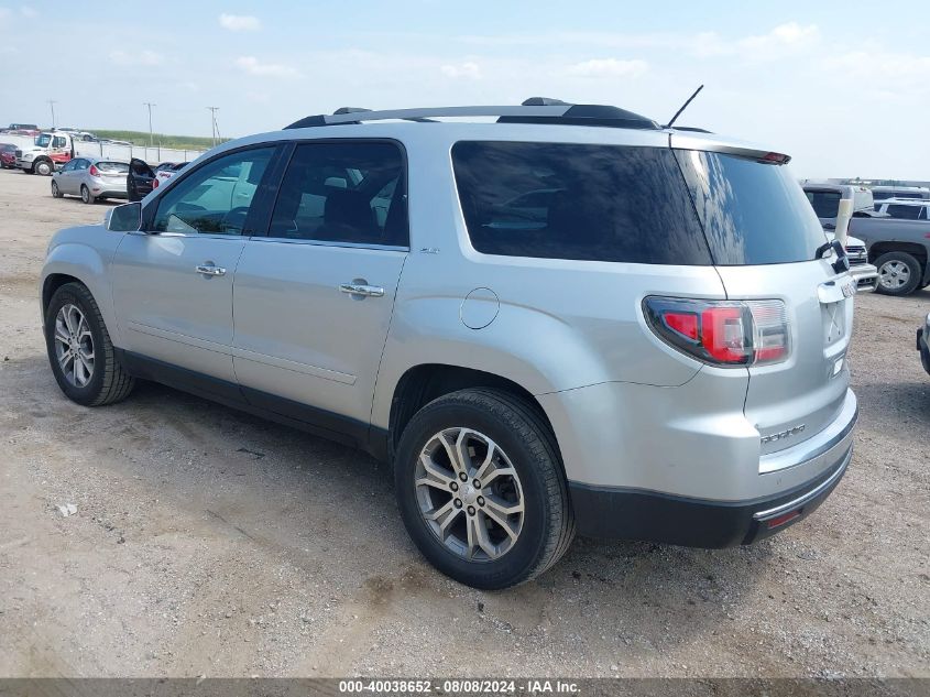
<path fill-rule="evenodd" d="M 274 148 L 218 157 L 165 193 L 152 222 L 157 232 L 242 235 Z"/>

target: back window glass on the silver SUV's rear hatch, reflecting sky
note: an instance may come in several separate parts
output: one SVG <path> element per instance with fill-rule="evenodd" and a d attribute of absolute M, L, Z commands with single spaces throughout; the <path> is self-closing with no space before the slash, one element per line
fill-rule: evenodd
<path fill-rule="evenodd" d="M 694 150 L 676 155 L 716 264 L 808 261 L 825 241 L 786 165 Z"/>

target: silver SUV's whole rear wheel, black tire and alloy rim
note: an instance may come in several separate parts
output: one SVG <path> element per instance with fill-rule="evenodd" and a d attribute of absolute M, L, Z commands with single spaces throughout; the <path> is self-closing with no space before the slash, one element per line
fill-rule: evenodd
<path fill-rule="evenodd" d="M 555 438 L 507 392 L 462 390 L 424 406 L 404 428 L 394 478 L 416 546 L 467 586 L 525 582 L 575 536 Z"/>

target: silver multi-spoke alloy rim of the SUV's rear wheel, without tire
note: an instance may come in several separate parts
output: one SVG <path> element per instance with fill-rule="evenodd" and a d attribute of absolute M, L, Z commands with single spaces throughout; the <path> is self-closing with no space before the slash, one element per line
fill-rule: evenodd
<path fill-rule="evenodd" d="M 424 522 L 463 559 L 493 562 L 519 537 L 519 477 L 503 449 L 478 431 L 452 427 L 429 438 L 417 460 L 414 486 Z"/>

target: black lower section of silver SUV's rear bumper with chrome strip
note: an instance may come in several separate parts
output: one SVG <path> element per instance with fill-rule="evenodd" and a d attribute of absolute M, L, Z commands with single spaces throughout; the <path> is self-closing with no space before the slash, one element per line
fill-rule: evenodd
<path fill-rule="evenodd" d="M 763 540 L 803 520 L 830 495 L 852 456 L 849 444 L 825 472 L 778 495 L 753 501 L 708 501 L 571 482 L 569 491 L 581 535 L 731 547 Z"/>

